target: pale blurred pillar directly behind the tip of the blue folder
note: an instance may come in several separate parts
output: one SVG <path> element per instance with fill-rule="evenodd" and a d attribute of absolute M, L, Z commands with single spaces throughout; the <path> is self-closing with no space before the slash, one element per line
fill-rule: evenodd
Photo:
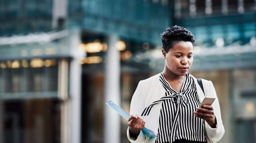
<path fill-rule="evenodd" d="M 120 53 L 115 47 L 117 36 L 109 36 L 105 71 L 105 102 L 112 100 L 120 105 Z M 104 108 L 104 142 L 120 143 L 121 117 L 111 108 Z"/>

